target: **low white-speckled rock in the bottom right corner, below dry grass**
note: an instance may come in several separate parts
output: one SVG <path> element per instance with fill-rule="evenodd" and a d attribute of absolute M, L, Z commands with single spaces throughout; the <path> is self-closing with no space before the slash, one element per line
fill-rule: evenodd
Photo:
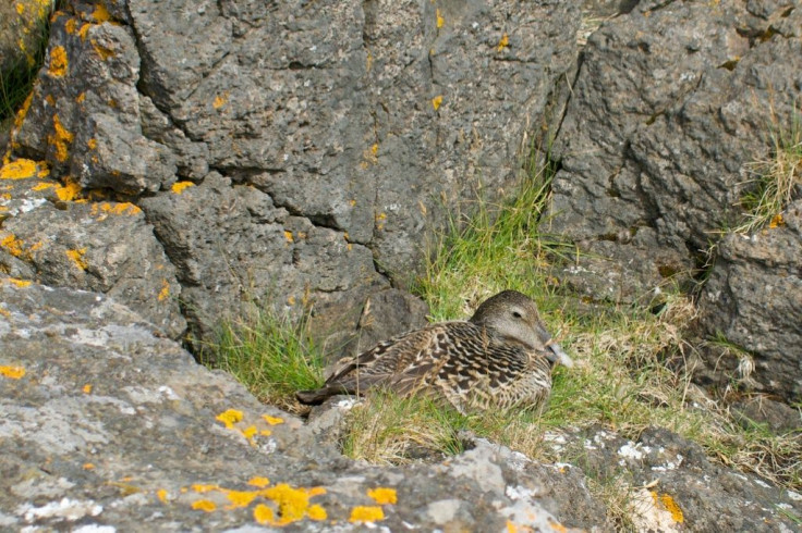
<path fill-rule="evenodd" d="M 758 476 L 712 463 L 704 450 L 664 429 L 647 429 L 636 441 L 605 430 L 549 436 L 561 457 L 576 457 L 597 483 L 629 492 L 624 505 L 636 531 L 792 532 L 802 495 Z M 548 508 L 548 507 L 547 507 Z M 557 513 L 559 517 L 559 512 Z"/>

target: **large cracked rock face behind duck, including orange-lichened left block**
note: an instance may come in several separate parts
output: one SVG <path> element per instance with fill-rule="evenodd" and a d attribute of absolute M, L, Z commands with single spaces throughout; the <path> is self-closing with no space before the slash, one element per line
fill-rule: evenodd
<path fill-rule="evenodd" d="M 267 301 L 344 343 L 447 212 L 514 188 L 580 4 L 72 2 L 14 154 L 143 209 L 202 340 Z"/>

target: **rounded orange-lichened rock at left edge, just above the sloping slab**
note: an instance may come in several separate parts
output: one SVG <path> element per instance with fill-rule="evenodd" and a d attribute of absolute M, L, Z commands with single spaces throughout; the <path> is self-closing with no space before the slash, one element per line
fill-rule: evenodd
<path fill-rule="evenodd" d="M 0 178 L 0 272 L 101 292 L 170 337 L 184 333 L 175 268 L 139 208 L 73 201 L 76 189 L 48 177 L 42 163 L 17 161 L 0 172 L 13 176 Z"/>

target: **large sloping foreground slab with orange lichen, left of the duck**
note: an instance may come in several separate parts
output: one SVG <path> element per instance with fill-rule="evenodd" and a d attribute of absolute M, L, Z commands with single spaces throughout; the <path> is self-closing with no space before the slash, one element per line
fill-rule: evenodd
<path fill-rule="evenodd" d="M 156 333 L 106 296 L 0 278 L 0 528 L 566 531 L 505 448 L 355 464 Z"/>

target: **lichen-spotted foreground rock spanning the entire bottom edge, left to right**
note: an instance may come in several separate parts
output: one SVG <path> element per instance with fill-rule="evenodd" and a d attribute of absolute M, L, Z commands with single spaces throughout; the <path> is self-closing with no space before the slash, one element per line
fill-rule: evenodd
<path fill-rule="evenodd" d="M 467 435 L 433 464 L 353 462 L 113 299 L 7 276 L 0 387 L 8 530 L 612 531 L 616 499 L 590 489 L 605 480 L 642 531 L 792 531 L 802 513 L 665 430 L 547 434 L 570 463 Z"/>

